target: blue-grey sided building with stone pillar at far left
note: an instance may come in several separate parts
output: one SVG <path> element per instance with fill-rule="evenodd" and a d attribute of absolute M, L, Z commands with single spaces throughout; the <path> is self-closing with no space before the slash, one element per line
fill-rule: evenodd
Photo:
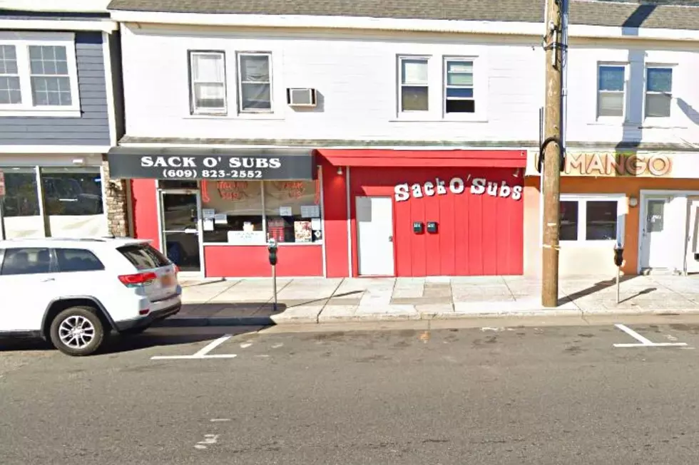
<path fill-rule="evenodd" d="M 12 11 L 3 28 L 0 240 L 128 235 L 126 184 L 106 164 L 123 134 L 117 23 Z"/>

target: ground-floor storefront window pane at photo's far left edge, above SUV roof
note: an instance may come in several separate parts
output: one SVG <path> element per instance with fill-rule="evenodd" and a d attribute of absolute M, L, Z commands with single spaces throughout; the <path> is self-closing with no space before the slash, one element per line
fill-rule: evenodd
<path fill-rule="evenodd" d="M 1 168 L 5 174 L 2 214 L 6 239 L 44 237 L 36 189 L 36 169 Z"/>

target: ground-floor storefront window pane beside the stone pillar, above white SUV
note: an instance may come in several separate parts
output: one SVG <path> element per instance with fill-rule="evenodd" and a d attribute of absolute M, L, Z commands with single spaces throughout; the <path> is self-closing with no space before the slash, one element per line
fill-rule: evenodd
<path fill-rule="evenodd" d="M 51 236 L 106 236 L 99 168 L 41 168 L 41 185 Z"/>

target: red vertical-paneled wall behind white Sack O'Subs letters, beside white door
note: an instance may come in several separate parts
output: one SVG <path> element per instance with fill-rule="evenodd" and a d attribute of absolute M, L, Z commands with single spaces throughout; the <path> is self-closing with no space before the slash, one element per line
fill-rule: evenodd
<path fill-rule="evenodd" d="M 352 174 L 355 195 L 390 192 L 396 276 L 523 272 L 523 184 L 515 169 L 356 169 Z M 430 222 L 436 232 L 427 231 Z M 414 224 L 422 225 L 422 233 L 414 232 Z"/>

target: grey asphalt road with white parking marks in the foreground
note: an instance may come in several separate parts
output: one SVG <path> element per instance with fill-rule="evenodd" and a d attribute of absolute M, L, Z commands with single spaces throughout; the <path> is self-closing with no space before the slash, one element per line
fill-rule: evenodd
<path fill-rule="evenodd" d="M 694 464 L 699 325 L 159 329 L 0 343 L 0 463 Z M 208 352 L 235 357 L 151 360 Z M 697 349 L 695 349 L 697 348 Z"/>

